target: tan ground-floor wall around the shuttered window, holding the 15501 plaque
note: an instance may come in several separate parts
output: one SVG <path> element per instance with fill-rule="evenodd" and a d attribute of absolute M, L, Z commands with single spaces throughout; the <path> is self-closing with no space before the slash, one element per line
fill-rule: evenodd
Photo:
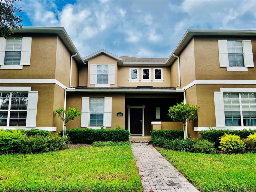
<path fill-rule="evenodd" d="M 66 109 L 74 107 L 81 111 L 82 97 L 112 97 L 112 127 L 106 127 L 106 129 L 115 129 L 116 125 L 120 125 L 123 129 L 125 127 L 125 95 L 123 93 L 67 93 Z M 116 116 L 116 113 L 123 112 L 123 116 Z M 81 126 L 81 116 L 68 122 L 67 129 L 75 129 Z M 85 127 L 83 127 L 85 128 Z"/>

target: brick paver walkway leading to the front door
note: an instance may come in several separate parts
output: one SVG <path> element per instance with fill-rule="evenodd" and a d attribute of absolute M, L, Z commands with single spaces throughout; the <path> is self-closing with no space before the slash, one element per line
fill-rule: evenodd
<path fill-rule="evenodd" d="M 199 192 L 152 145 L 132 143 L 145 192 Z"/>

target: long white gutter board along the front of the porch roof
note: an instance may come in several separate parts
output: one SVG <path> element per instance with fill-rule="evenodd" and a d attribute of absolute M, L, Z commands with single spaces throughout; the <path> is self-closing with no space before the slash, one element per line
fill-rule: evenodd
<path fill-rule="evenodd" d="M 76 89 L 76 90 L 70 90 L 66 89 L 65 91 L 69 92 L 114 92 L 114 93 L 168 93 L 168 92 L 185 92 L 185 90 L 168 90 L 168 89 L 159 89 L 159 90 L 152 90 L 152 89 Z"/>

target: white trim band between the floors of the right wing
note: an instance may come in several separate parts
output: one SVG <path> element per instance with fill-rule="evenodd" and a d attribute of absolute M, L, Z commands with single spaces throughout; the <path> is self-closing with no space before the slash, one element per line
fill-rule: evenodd
<path fill-rule="evenodd" d="M 256 80 L 194 80 L 182 89 L 188 89 L 195 84 L 256 84 Z"/>

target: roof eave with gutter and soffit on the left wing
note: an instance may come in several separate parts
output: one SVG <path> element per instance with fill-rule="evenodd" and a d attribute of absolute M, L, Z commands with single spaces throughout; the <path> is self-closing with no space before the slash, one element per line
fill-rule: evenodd
<path fill-rule="evenodd" d="M 17 29 L 12 29 L 13 33 L 41 33 L 41 34 L 57 34 L 60 39 L 62 40 L 63 44 L 67 47 L 67 49 L 70 51 L 71 55 L 74 55 L 77 53 L 76 56 L 74 56 L 74 59 L 78 61 L 79 63 L 84 63 L 83 58 L 79 54 L 76 46 L 73 44 L 72 40 L 70 39 L 67 31 L 64 27 L 22 27 L 17 31 Z"/>

